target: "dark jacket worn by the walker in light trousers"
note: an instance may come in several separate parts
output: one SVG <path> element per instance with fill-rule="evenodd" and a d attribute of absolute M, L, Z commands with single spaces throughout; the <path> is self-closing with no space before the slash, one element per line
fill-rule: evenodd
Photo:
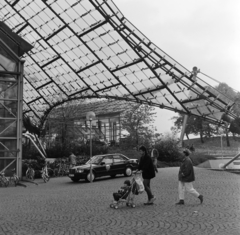
<path fill-rule="evenodd" d="M 181 163 L 178 179 L 179 181 L 187 183 L 195 181 L 193 164 L 189 157 L 185 157 L 183 162 Z"/>

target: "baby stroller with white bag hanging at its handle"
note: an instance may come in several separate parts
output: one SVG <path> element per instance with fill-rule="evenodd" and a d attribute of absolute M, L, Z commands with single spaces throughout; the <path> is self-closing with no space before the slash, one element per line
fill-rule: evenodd
<path fill-rule="evenodd" d="M 129 184 L 124 187 L 124 190 L 121 190 L 120 192 L 118 191 L 118 193 L 113 193 L 114 199 L 116 199 L 115 196 L 118 196 L 119 198 L 110 204 L 111 208 L 118 209 L 119 205 L 124 203 L 126 203 L 126 206 L 132 208 L 136 207 L 134 204 L 134 197 L 144 191 L 141 173 L 136 172 L 132 179 L 126 180 L 124 184 L 127 182 L 129 182 Z"/>

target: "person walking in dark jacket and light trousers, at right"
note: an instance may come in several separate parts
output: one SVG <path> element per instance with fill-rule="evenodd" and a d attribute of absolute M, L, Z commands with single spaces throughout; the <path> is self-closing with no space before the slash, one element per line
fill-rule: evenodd
<path fill-rule="evenodd" d="M 182 162 L 178 174 L 178 193 L 179 193 L 179 202 L 176 205 L 184 205 L 184 193 L 185 190 L 191 193 L 193 196 L 197 197 L 200 200 L 200 203 L 203 202 L 203 196 L 199 194 L 194 188 L 192 182 L 195 181 L 194 168 L 190 156 L 190 150 L 185 149 L 183 151 Z"/>

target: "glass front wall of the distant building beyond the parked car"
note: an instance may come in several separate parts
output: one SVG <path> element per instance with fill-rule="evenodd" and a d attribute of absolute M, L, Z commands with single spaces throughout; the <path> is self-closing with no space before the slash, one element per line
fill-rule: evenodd
<path fill-rule="evenodd" d="M 68 140 L 79 140 L 85 143 L 90 139 L 90 122 L 86 121 L 85 117 L 72 120 L 48 118 L 46 130 L 45 141 L 48 146 L 54 141 L 61 141 L 63 136 Z M 92 139 L 106 143 L 119 143 L 120 135 L 120 112 L 98 115 L 92 120 Z"/>

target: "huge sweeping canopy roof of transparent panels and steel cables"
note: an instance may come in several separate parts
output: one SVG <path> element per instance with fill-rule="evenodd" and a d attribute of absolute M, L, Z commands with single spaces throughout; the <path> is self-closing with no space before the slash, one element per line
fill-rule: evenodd
<path fill-rule="evenodd" d="M 24 113 L 36 123 L 77 98 L 133 101 L 214 123 L 234 102 L 134 27 L 110 0 L 11 1 L 0 18 L 34 48 L 23 56 Z"/>

